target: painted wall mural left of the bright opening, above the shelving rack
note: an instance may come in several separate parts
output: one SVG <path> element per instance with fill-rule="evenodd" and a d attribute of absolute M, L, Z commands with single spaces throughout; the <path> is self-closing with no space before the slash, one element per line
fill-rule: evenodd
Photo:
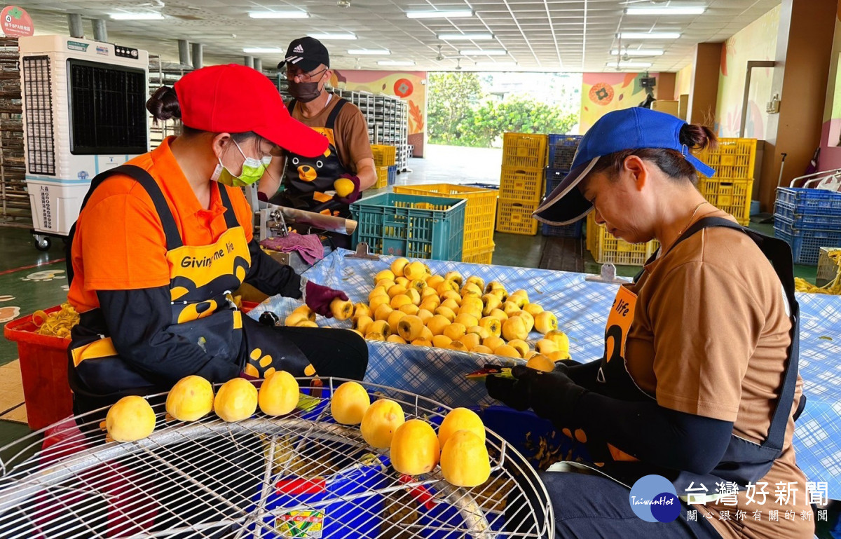
<path fill-rule="evenodd" d="M 409 103 L 409 144 L 423 156 L 426 140 L 426 71 L 367 71 L 337 69 L 331 85 L 347 90 L 385 93 Z"/>

